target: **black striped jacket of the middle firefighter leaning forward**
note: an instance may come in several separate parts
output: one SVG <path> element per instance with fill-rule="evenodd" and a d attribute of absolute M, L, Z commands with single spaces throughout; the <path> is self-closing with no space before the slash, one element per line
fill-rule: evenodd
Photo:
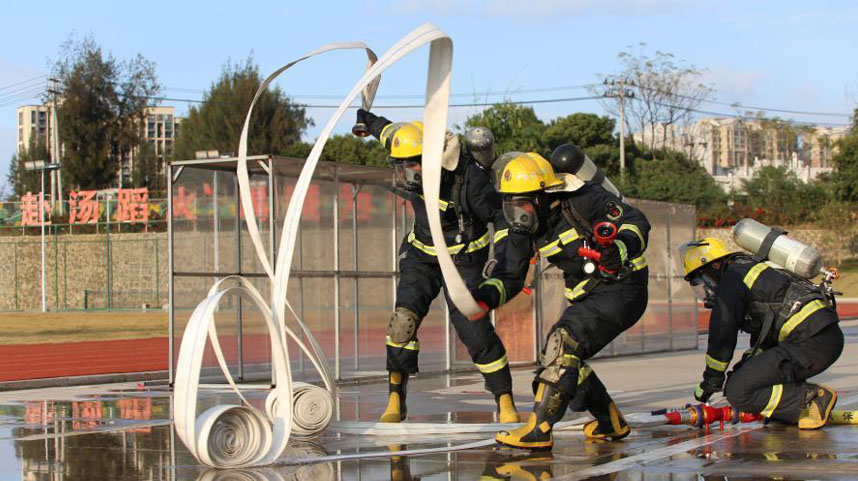
<path fill-rule="evenodd" d="M 498 263 L 491 278 L 480 285 L 481 297 L 490 309 L 503 305 L 524 287 L 529 261 L 535 253 L 563 271 L 566 299 L 580 301 L 600 285 L 645 282 L 646 250 L 650 224 L 640 210 L 626 204 L 601 185 L 587 182 L 574 192 L 550 194 L 553 200 L 545 219 L 547 225 L 537 235 L 509 228 L 498 230 L 495 239 L 506 237 L 504 250 L 495 256 Z M 598 271 L 584 273 L 586 259 L 578 248 L 587 246 L 599 250 L 592 238 L 592 228 L 600 222 L 610 222 L 617 229 L 614 242 L 625 258 L 630 274 L 622 280 L 601 277 Z M 506 224 L 504 224 L 506 226 Z M 493 289 L 487 289 L 492 286 Z"/>

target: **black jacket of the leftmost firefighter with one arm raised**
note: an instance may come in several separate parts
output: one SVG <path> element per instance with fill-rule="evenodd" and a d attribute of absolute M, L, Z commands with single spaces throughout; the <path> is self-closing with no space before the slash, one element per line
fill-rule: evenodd
<path fill-rule="evenodd" d="M 369 125 L 369 131 L 380 139 L 384 127 L 390 123 L 384 117 L 377 117 Z M 414 224 L 402 240 L 400 254 L 437 263 L 423 194 L 404 189 L 394 189 L 394 192 L 407 199 L 414 210 Z M 439 209 L 444 240 L 453 262 L 485 263 L 492 243 L 488 224 L 494 222 L 497 226 L 504 222 L 502 201 L 489 174 L 465 154 L 460 155 L 455 171 L 442 170 Z M 501 246 L 495 249 L 500 250 Z"/>

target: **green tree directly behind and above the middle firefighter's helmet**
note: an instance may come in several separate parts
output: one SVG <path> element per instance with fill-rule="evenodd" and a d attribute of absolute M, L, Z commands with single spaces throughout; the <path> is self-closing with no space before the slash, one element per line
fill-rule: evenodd
<path fill-rule="evenodd" d="M 503 102 L 468 117 L 466 127 L 488 127 L 495 136 L 498 155 L 504 152 L 550 154 L 545 145 L 545 124 L 533 107 Z"/>

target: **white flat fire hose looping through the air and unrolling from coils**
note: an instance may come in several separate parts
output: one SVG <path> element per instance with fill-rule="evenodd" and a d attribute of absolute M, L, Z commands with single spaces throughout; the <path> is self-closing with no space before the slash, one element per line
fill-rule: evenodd
<path fill-rule="evenodd" d="M 297 434 L 318 432 L 316 431 L 317 429 L 324 429 L 324 426 L 327 424 L 325 419 L 329 420 L 333 414 L 332 402 L 330 404 L 324 401 L 319 402 L 315 397 L 316 395 L 313 394 L 314 392 L 318 394 L 317 391 L 304 390 L 302 391 L 304 393 L 302 396 L 311 396 L 304 400 L 316 400 L 310 403 L 314 407 L 308 410 L 308 413 L 311 414 L 308 424 L 301 425 L 298 422 L 298 418 L 302 413 L 296 413 L 300 409 L 296 406 L 296 400 L 300 401 L 301 399 L 296 399 L 297 393 L 295 384 L 292 382 L 292 372 L 289 362 L 287 336 L 310 358 L 319 375 L 322 377 L 331 399 L 333 399 L 336 395 L 335 385 L 330 377 L 322 350 L 319 348 L 318 343 L 307 326 L 294 313 L 294 310 L 292 310 L 287 302 L 289 275 L 304 199 L 322 149 L 330 137 L 334 126 L 349 105 L 351 105 L 352 101 L 358 94 L 363 94 L 363 104 L 370 106 L 375 96 L 380 75 L 404 56 L 427 43 L 430 44 L 430 52 L 426 86 L 426 108 L 424 111 L 423 165 L 427 177 L 425 197 L 430 213 L 429 223 L 432 230 L 433 242 L 436 246 L 439 246 L 439 262 L 441 263 L 445 281 L 451 287 L 451 292 L 454 293 L 454 303 L 466 315 L 479 312 L 479 307 L 473 298 L 471 298 L 467 289 L 465 289 L 464 281 L 462 281 L 461 276 L 459 276 L 458 271 L 456 271 L 452 263 L 452 259 L 450 259 L 447 253 L 438 213 L 441 154 L 444 146 L 444 132 L 450 94 L 450 71 L 452 66 L 452 41 L 450 38 L 436 26 L 427 23 L 403 37 L 385 52 L 384 55 L 377 59 L 375 54 L 363 43 L 335 43 L 325 45 L 286 64 L 271 74 L 262 83 L 248 109 L 239 141 L 239 159 L 236 172 L 239 195 L 241 196 L 242 209 L 250 239 L 256 250 L 257 257 L 271 281 L 270 303 L 266 302 L 261 293 L 246 279 L 239 276 L 221 279 L 212 286 L 208 296 L 200 302 L 192 313 L 185 328 L 179 350 L 176 378 L 174 381 L 175 396 L 173 400 L 176 431 L 191 454 L 201 463 L 218 468 L 244 468 L 271 464 L 281 456 L 293 432 Z M 253 106 L 264 89 L 281 73 L 303 60 L 338 49 L 366 50 L 369 57 L 369 66 L 358 83 L 340 104 L 334 115 L 329 119 L 304 163 L 286 211 L 286 218 L 281 229 L 280 247 L 277 252 L 276 265 L 272 268 L 272 263 L 265 253 L 265 247 L 259 235 L 256 216 L 253 211 L 250 179 L 247 169 L 247 134 Z M 238 286 L 229 287 L 225 284 L 226 281 L 237 282 Z M 227 295 L 241 296 L 252 302 L 262 313 L 268 328 L 269 337 L 271 338 L 272 365 L 276 380 L 276 387 L 272 391 L 272 394 L 269 394 L 273 398 L 269 397 L 266 403 L 269 405 L 270 416 L 266 416 L 251 406 L 244 398 L 229 372 L 223 351 L 220 348 L 215 329 L 214 312 L 219 302 Z M 300 338 L 286 324 L 287 308 L 291 311 L 295 323 L 306 336 L 310 345 L 309 347 L 301 342 Z M 211 342 L 218 364 L 227 382 L 239 396 L 242 403 L 240 405 L 217 405 L 205 410 L 197 417 L 199 377 L 207 338 Z M 282 399 L 290 399 L 292 402 L 284 403 L 277 401 Z M 323 415 L 316 416 L 319 412 L 314 411 L 315 409 L 327 409 L 328 407 L 331 409 L 330 413 L 324 412 L 322 413 Z M 481 441 L 480 443 L 482 443 L 481 445 L 490 444 L 491 441 Z M 467 449 L 469 446 L 462 445 L 438 449 L 449 451 L 451 449 Z M 427 450 L 419 450 L 419 452 L 423 451 Z M 410 453 L 410 451 L 402 451 L 396 454 L 408 455 Z M 384 453 L 378 454 L 381 455 Z M 301 460 L 292 461 L 299 462 Z"/>

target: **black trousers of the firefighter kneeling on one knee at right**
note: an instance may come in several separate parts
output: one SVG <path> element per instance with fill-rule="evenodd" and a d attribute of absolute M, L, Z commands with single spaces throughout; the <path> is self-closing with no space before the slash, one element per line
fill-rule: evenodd
<path fill-rule="evenodd" d="M 741 411 L 796 423 L 805 380 L 834 364 L 842 350 L 843 333 L 837 324 L 810 339 L 782 342 L 741 361 L 727 379 L 724 395 Z"/>

